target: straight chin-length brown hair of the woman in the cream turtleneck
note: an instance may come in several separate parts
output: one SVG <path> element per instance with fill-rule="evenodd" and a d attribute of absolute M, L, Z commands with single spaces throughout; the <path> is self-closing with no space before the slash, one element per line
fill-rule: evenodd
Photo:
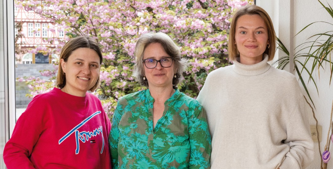
<path fill-rule="evenodd" d="M 265 22 L 268 30 L 268 40 L 269 40 L 269 48 L 266 47 L 264 53 L 268 54 L 268 60 L 272 60 L 275 54 L 275 31 L 273 27 L 273 23 L 267 12 L 259 6 L 256 5 L 246 5 L 239 8 L 235 14 L 233 15 L 230 33 L 229 33 L 229 43 L 228 43 L 228 52 L 229 59 L 234 60 L 236 56 L 239 55 L 237 46 L 235 45 L 235 31 L 236 31 L 236 23 L 239 17 L 243 15 L 259 15 L 261 19 Z"/>

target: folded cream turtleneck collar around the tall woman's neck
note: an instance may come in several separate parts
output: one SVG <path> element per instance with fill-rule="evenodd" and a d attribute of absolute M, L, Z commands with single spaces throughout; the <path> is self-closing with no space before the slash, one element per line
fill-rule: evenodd
<path fill-rule="evenodd" d="M 264 59 L 256 64 L 242 64 L 237 61 L 239 59 L 233 60 L 233 70 L 236 73 L 245 76 L 254 76 L 262 74 L 270 68 L 270 65 L 267 63 L 268 55 L 264 53 L 263 56 Z"/>

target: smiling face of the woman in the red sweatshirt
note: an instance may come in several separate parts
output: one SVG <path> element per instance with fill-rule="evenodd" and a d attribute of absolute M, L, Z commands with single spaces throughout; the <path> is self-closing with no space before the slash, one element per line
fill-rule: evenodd
<path fill-rule="evenodd" d="M 90 48 L 78 48 L 68 57 L 67 62 L 60 59 L 66 73 L 66 84 L 62 89 L 70 95 L 84 97 L 100 75 L 100 57 Z"/>

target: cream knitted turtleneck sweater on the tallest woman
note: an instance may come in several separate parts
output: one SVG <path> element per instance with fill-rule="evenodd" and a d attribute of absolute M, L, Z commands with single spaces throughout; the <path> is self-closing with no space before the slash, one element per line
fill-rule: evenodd
<path fill-rule="evenodd" d="M 299 169 L 314 158 L 295 76 L 264 60 L 210 72 L 197 97 L 212 136 L 211 168 Z"/>

